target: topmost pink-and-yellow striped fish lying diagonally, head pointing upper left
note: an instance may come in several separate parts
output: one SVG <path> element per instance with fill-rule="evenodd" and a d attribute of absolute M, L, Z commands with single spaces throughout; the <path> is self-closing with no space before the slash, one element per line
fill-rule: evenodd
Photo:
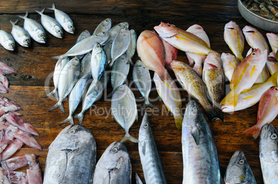
<path fill-rule="evenodd" d="M 160 25 L 154 27 L 154 30 L 158 32 L 160 37 L 178 50 L 201 55 L 208 54 L 208 52 L 214 52 L 205 41 L 197 37 L 195 34 L 176 28 L 175 25 L 161 22 Z"/>

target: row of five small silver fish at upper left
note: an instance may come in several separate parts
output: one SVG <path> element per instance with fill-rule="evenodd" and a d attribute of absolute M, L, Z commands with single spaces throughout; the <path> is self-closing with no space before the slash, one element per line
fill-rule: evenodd
<path fill-rule="evenodd" d="M 75 32 L 73 21 L 68 14 L 61 10 L 57 10 L 54 3 L 53 7 L 48 9 L 54 10 L 55 19 L 44 14 L 45 8 L 41 10 L 41 12 L 37 10 L 36 12 L 41 15 L 41 24 L 50 34 L 62 39 L 64 36 L 63 29 L 71 34 Z M 0 44 L 3 48 L 11 51 L 15 50 L 15 41 L 17 41 L 22 47 L 29 47 L 31 43 L 30 38 L 38 43 L 46 43 L 46 32 L 44 31 L 44 28 L 34 19 L 28 18 L 28 11 L 25 16 L 19 15 L 19 17 L 24 19 L 24 28 L 17 25 L 17 19 L 16 21 L 10 21 L 10 23 L 12 23 L 12 35 L 5 30 L 0 30 Z"/>

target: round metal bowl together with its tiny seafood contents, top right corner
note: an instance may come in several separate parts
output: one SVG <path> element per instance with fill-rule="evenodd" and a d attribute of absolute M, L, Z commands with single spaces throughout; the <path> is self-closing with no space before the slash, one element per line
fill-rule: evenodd
<path fill-rule="evenodd" d="M 270 32 L 278 31 L 278 2 L 238 0 L 241 16 L 252 25 Z"/>

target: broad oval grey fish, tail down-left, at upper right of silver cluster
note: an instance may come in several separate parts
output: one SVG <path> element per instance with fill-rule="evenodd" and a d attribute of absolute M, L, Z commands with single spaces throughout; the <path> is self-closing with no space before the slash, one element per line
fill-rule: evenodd
<path fill-rule="evenodd" d="M 130 37 L 129 29 L 122 28 L 112 43 L 112 48 L 111 48 L 112 65 L 114 61 L 118 59 L 118 57 L 120 57 L 122 54 L 124 54 L 124 52 L 127 51 L 127 48 L 129 48 L 130 39 L 131 37 Z"/>

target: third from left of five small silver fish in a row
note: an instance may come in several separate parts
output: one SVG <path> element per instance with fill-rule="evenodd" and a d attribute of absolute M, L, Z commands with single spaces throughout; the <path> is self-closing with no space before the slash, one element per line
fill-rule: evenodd
<path fill-rule="evenodd" d="M 28 11 L 25 16 L 19 15 L 21 19 L 24 19 L 24 29 L 29 33 L 30 37 L 38 43 L 46 43 L 46 32 L 44 28 L 35 20 L 27 17 Z"/>

